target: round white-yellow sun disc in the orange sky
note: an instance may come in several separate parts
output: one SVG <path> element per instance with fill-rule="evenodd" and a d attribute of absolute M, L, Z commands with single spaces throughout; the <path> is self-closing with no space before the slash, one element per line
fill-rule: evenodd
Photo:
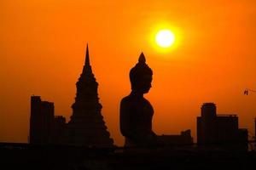
<path fill-rule="evenodd" d="M 161 48 L 169 48 L 175 42 L 175 36 L 170 30 L 160 30 L 155 36 L 155 41 Z"/>

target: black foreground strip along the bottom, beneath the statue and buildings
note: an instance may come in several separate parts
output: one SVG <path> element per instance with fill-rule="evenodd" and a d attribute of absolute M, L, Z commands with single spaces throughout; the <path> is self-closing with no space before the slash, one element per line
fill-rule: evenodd
<path fill-rule="evenodd" d="M 0 169 L 252 169 L 255 151 L 212 147 L 90 148 L 0 144 Z"/>

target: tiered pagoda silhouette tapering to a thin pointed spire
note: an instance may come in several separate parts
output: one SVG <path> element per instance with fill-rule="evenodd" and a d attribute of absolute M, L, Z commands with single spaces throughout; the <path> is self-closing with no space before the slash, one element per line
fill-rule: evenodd
<path fill-rule="evenodd" d="M 84 68 L 76 86 L 73 115 L 67 124 L 67 144 L 112 146 L 113 139 L 110 139 L 101 113 L 102 105 L 97 94 L 98 83 L 91 70 L 88 44 Z"/>

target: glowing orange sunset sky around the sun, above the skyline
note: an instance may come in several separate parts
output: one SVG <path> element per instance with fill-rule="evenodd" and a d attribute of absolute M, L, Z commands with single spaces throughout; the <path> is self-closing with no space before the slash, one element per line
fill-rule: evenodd
<path fill-rule="evenodd" d="M 240 127 L 254 133 L 256 94 L 242 95 L 256 89 L 254 0 L 1 0 L 0 23 L 2 142 L 27 142 L 32 94 L 69 119 L 86 42 L 115 144 L 123 144 L 119 101 L 130 93 L 128 74 L 141 51 L 154 71 L 146 98 L 156 133 L 190 128 L 195 138 L 203 102 L 238 114 Z M 163 53 L 152 35 L 166 24 L 179 43 Z"/>

